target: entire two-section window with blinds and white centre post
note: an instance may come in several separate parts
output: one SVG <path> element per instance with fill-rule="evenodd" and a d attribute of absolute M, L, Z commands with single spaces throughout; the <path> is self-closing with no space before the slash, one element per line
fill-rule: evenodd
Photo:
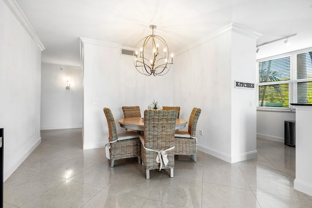
<path fill-rule="evenodd" d="M 258 62 L 257 107 L 312 103 L 312 51 Z"/>

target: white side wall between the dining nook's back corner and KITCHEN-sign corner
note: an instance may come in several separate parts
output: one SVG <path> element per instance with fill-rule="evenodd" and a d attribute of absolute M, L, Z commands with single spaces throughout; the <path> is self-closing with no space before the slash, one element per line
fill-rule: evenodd
<path fill-rule="evenodd" d="M 180 117 L 201 108 L 196 127 L 199 145 L 231 155 L 231 33 L 202 41 L 175 57 L 179 73 L 174 79 L 174 105 L 181 107 Z"/>

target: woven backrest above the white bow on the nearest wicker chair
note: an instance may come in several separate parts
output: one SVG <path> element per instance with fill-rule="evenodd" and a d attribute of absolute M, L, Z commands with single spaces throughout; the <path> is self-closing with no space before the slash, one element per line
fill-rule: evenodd
<path fill-rule="evenodd" d="M 174 146 L 176 116 L 176 110 L 144 111 L 144 138 L 146 148 L 162 150 Z"/>

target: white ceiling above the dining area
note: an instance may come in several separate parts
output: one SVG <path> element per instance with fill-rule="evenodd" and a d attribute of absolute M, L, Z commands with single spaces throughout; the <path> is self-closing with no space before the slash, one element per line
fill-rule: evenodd
<path fill-rule="evenodd" d="M 79 66 L 79 37 L 134 47 L 155 34 L 175 53 L 234 22 L 262 34 L 257 59 L 312 47 L 312 0 L 16 0 L 45 50 L 42 62 Z M 255 48 L 256 49 L 256 48 Z"/>

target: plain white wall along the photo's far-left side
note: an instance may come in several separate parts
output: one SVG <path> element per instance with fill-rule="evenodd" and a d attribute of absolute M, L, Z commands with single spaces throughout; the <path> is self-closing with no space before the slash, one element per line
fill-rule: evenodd
<path fill-rule="evenodd" d="M 0 128 L 4 128 L 4 180 L 41 141 L 41 50 L 0 0 Z"/>

